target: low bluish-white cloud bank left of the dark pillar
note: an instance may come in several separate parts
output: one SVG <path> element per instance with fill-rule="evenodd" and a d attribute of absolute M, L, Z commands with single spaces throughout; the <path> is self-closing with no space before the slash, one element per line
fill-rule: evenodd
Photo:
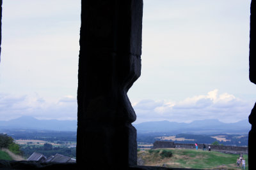
<path fill-rule="evenodd" d="M 0 94 L 0 120 L 10 120 L 24 115 L 40 119 L 76 120 L 76 97 L 64 96 L 51 101 L 43 99 L 38 94 L 29 96 Z"/>

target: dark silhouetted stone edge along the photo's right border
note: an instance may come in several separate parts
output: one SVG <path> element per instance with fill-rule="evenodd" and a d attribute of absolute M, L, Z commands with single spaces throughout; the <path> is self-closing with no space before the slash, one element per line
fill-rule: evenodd
<path fill-rule="evenodd" d="M 252 0 L 251 3 L 251 17 L 250 17 L 250 57 L 249 57 L 249 77 L 252 83 L 256 83 L 256 2 Z M 256 169 L 256 162 L 254 160 L 256 153 L 256 103 L 249 116 L 249 122 L 252 124 L 252 129 L 249 132 L 248 139 L 248 165 L 249 169 Z"/>

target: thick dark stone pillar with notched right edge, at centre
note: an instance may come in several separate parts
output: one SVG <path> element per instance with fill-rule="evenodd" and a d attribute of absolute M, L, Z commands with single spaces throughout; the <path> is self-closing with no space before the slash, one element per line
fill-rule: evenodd
<path fill-rule="evenodd" d="M 140 76 L 143 1 L 81 4 L 77 164 L 88 169 L 136 165 L 131 125 L 136 114 L 127 91 Z"/>

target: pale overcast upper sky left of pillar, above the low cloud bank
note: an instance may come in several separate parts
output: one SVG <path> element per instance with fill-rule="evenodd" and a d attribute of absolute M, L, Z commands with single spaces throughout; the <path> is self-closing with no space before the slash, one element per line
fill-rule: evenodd
<path fill-rule="evenodd" d="M 81 1 L 3 3 L 0 93 L 76 95 Z"/>

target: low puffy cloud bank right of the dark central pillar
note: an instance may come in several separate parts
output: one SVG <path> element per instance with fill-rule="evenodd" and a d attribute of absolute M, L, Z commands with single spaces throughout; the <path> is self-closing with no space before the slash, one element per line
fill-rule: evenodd
<path fill-rule="evenodd" d="M 178 102 L 143 100 L 134 106 L 137 114 L 135 124 L 156 120 L 192 122 L 211 118 L 227 123 L 238 122 L 248 118 L 253 104 L 253 101 L 243 101 L 232 94 L 218 94 L 217 89 Z"/>

